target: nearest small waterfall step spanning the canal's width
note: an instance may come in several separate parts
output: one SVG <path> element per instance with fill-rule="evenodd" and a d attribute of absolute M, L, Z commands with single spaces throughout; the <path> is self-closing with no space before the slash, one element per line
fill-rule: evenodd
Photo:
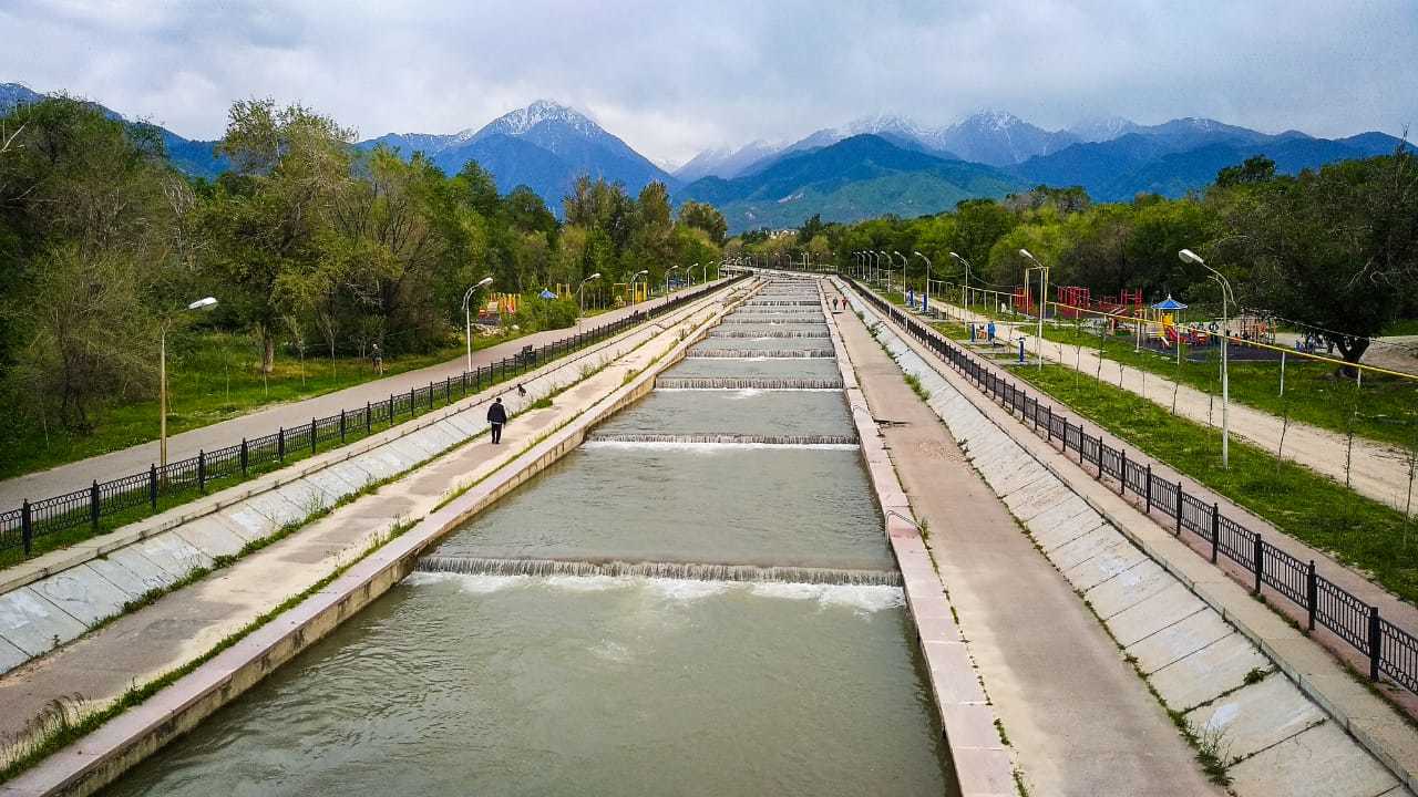
<path fill-rule="evenodd" d="M 566 562 L 559 559 L 481 559 L 474 556 L 425 556 L 414 566 L 423 573 L 467 576 L 611 576 L 642 579 L 685 579 L 695 581 L 749 581 L 788 584 L 842 584 L 899 587 L 895 570 L 848 570 L 837 567 L 757 567 L 754 564 L 708 564 L 692 562 Z"/>

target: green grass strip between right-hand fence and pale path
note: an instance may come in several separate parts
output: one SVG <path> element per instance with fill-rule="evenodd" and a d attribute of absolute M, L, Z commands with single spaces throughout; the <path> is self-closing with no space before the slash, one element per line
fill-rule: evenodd
<path fill-rule="evenodd" d="M 966 339 L 959 323 L 933 323 Z M 1107 430 L 1130 447 L 1160 459 L 1245 506 L 1275 528 L 1370 577 L 1408 603 L 1418 603 L 1418 515 L 1360 496 L 1344 485 L 1242 441 L 1231 441 L 1231 469 L 1221 469 L 1221 433 L 1173 416 L 1164 407 L 1065 366 L 1010 372 L 1066 404 L 1073 414 Z"/>

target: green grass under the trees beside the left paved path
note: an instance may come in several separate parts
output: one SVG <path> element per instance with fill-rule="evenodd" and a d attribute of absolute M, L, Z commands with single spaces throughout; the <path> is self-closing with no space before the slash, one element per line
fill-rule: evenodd
<path fill-rule="evenodd" d="M 485 349 L 509 339 L 476 338 L 474 347 Z M 427 355 L 387 357 L 384 376 L 445 363 L 464 350 L 462 345 L 457 345 Z M 303 369 L 299 357 L 279 352 L 275 370 L 262 379 L 258 357 L 257 345 L 244 335 L 207 332 L 169 340 L 167 434 L 377 379 L 367 359 L 337 357 L 332 366 L 328 356 L 322 359 L 315 350 L 306 352 Z M 91 434 L 45 428 L 41 423 L 4 424 L 0 427 L 0 448 L 6 451 L 6 457 L 0 458 L 0 478 L 157 440 L 157 396 L 94 407 L 89 418 L 94 424 Z"/>

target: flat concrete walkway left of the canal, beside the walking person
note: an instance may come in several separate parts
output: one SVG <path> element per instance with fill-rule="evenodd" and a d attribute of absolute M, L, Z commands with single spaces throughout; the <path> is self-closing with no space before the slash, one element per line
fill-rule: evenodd
<path fill-rule="evenodd" d="M 330 574 L 340 563 L 357 559 L 396 523 L 434 512 L 459 485 L 471 485 L 498 471 L 533 441 L 577 418 L 623 386 L 627 373 L 649 367 L 679 345 L 682 329 L 712 318 L 719 308 L 718 302 L 710 302 L 668 330 L 642 329 L 628 340 L 645 345 L 559 394 L 552 407 L 515 417 L 501 445 L 479 437 L 196 584 L 10 671 L 0 678 L 0 747 L 23 737 L 31 719 L 55 699 L 72 701 L 79 710 L 94 710 L 128 688 L 211 650 L 286 597 Z"/>

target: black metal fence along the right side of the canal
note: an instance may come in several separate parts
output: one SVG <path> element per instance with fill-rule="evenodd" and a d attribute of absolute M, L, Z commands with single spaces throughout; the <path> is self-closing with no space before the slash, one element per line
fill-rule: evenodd
<path fill-rule="evenodd" d="M 1150 462 L 1141 464 L 1139 457 L 1129 458 L 1127 450 L 1107 445 L 1102 435 L 1088 434 L 1083 431 L 1083 424 L 1072 423 L 1052 406 L 1041 403 L 1038 397 L 995 374 L 964 347 L 889 305 L 876 294 L 862 289 L 855 281 L 851 282 L 859 295 L 885 312 L 912 338 L 997 403 L 1018 413 L 1021 423 L 1031 424 L 1035 433 L 1049 442 L 1058 441 L 1064 452 L 1076 451 L 1079 464 L 1098 468 L 1099 478 L 1116 479 L 1119 494 L 1132 492 L 1141 499 L 1147 512 L 1156 509 L 1171 518 L 1177 536 L 1187 532 L 1200 537 L 1210 546 L 1212 563 L 1224 556 L 1239 564 L 1254 577 L 1251 587 L 1256 594 L 1263 587 L 1271 587 L 1306 611 L 1310 631 L 1316 625 L 1327 628 L 1358 650 L 1368 658 L 1370 679 L 1378 681 L 1380 675 L 1387 675 L 1408 691 L 1418 692 L 1418 637 L 1380 617 L 1377 606 L 1364 603 L 1320 576 L 1314 570 L 1313 560 L 1300 562 L 1265 542 L 1259 532 L 1252 532 L 1222 515 L 1217 503 L 1187 494 L 1181 482 L 1171 482 L 1153 474 Z"/>

